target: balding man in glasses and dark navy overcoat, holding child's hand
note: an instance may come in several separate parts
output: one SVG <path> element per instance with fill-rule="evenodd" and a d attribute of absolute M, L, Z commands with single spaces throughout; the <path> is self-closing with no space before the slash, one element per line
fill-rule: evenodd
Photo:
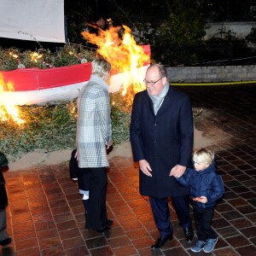
<path fill-rule="evenodd" d="M 191 162 L 193 115 L 189 97 L 169 85 L 166 68 L 148 67 L 147 90 L 137 93 L 131 113 L 131 146 L 140 166 L 140 193 L 149 196 L 160 237 L 151 247 L 162 247 L 172 239 L 168 197 L 177 212 L 187 241 L 194 231 L 189 218 L 189 189 L 177 183 Z"/>

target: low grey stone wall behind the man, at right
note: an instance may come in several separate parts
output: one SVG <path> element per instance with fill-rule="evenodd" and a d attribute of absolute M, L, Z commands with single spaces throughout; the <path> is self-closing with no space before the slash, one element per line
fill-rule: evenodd
<path fill-rule="evenodd" d="M 207 83 L 256 80 L 256 65 L 223 67 L 166 67 L 170 82 Z"/>

